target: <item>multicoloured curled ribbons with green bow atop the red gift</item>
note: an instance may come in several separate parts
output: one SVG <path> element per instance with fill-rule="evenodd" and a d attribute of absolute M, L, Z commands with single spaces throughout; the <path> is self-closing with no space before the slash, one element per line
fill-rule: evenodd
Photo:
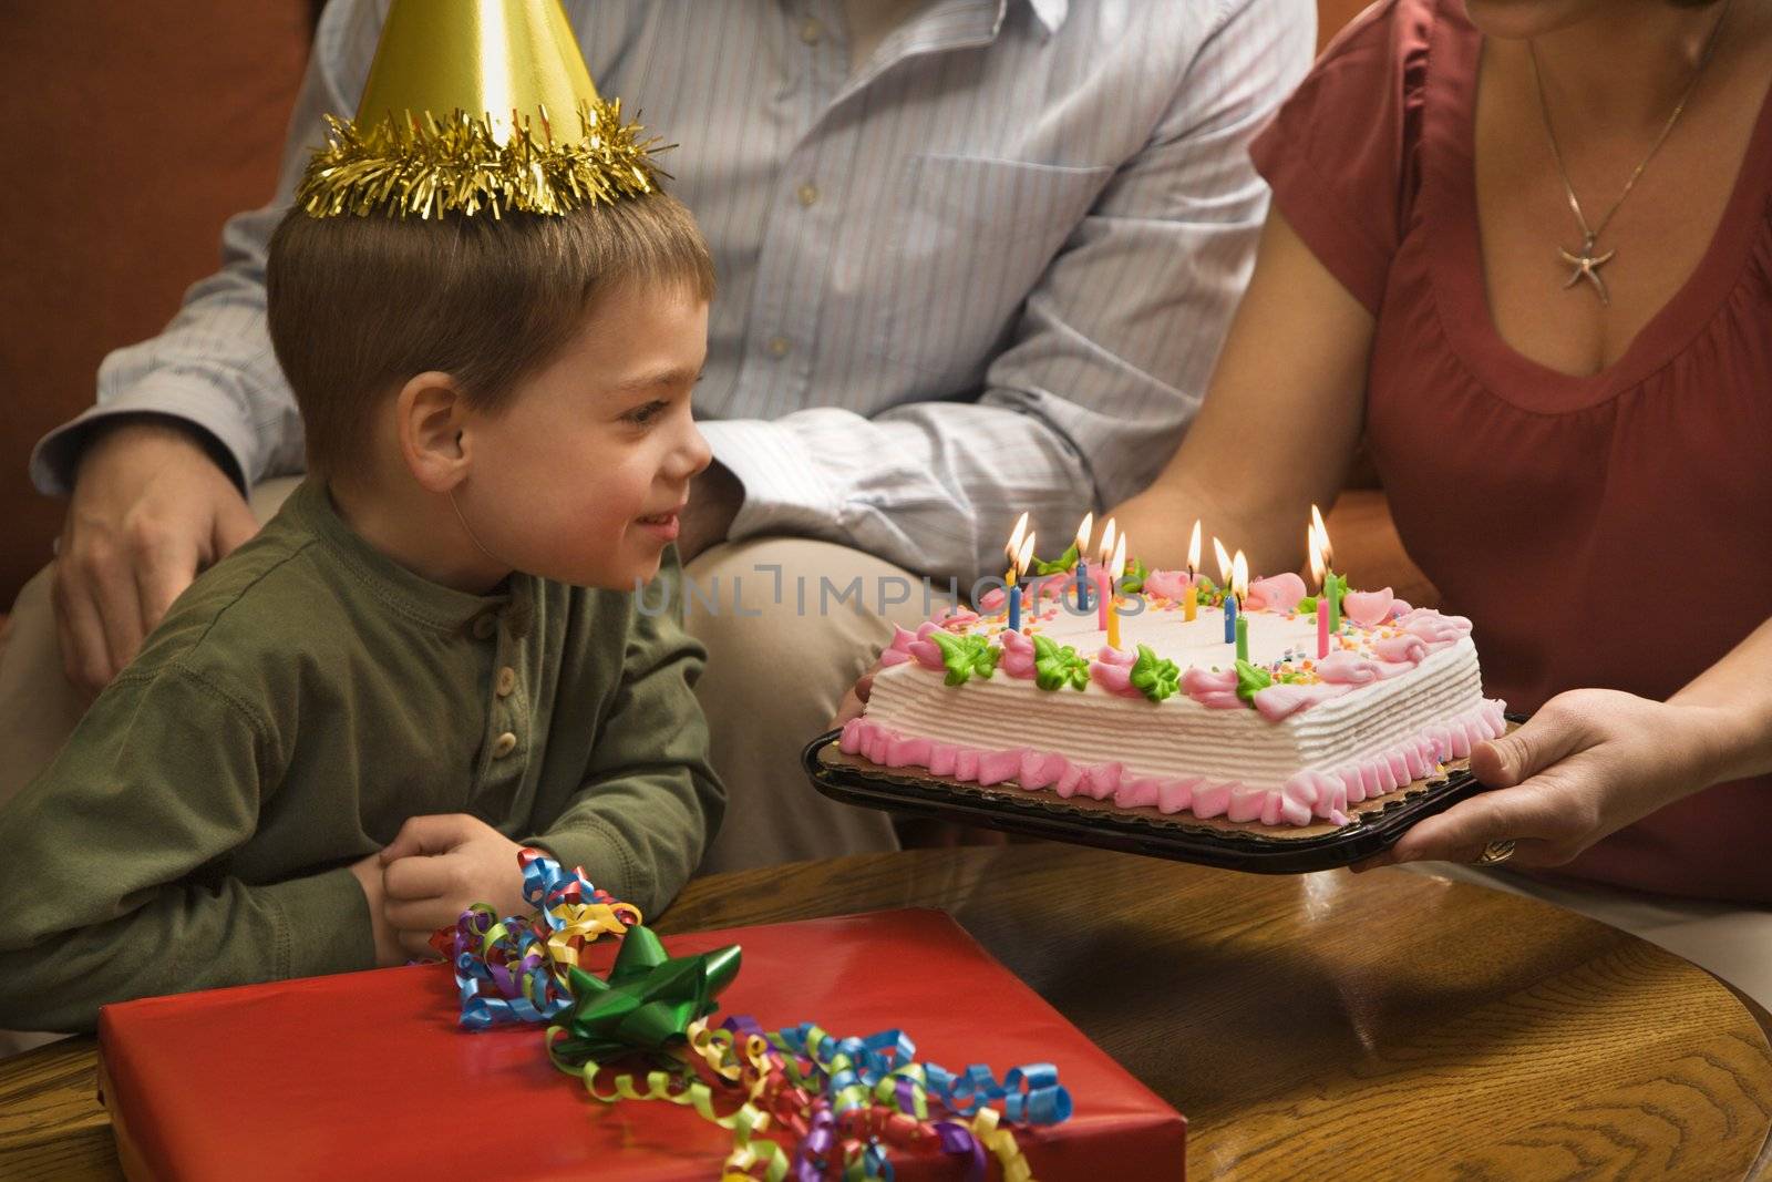
<path fill-rule="evenodd" d="M 998 1083 L 982 1063 L 953 1074 L 918 1061 L 902 1030 L 836 1038 L 812 1023 L 764 1031 L 748 1015 L 709 1026 L 714 998 L 739 971 L 737 946 L 672 957 L 640 927 L 638 911 L 597 891 L 583 872 L 567 875 L 551 858 L 525 854 L 525 898 L 540 918 L 496 920 L 482 906 L 457 923 L 462 1024 L 553 1023 L 549 1060 L 592 1099 L 682 1104 L 730 1131 L 723 1182 L 890 1182 L 890 1150 L 930 1139 L 964 1164 L 968 1182 L 983 1182 L 991 1157 L 1005 1182 L 1031 1182 L 1005 1122 L 1070 1116 L 1053 1063 L 1015 1067 Z M 597 978 L 578 953 L 604 932 L 624 939 L 608 976 Z M 654 1069 L 636 1077 L 604 1067 L 634 1054 Z"/>

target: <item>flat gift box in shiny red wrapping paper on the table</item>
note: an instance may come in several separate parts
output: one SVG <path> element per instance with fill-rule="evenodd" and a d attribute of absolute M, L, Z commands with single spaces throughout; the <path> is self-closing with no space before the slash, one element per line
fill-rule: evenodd
<path fill-rule="evenodd" d="M 737 927 L 664 939 L 741 945 L 719 1015 L 833 1035 L 902 1028 L 923 1061 L 1001 1077 L 1058 1065 L 1070 1120 L 1014 1125 L 1035 1175 L 1180 1178 L 1185 1122 L 941 911 Z M 617 941 L 595 946 L 606 973 Z M 592 1099 L 540 1026 L 457 1026 L 448 966 L 144 998 L 99 1012 L 99 1086 L 131 1178 L 716 1178 L 732 1134 L 666 1102 Z M 718 1015 L 716 1015 L 718 1021 Z M 900 1178 L 959 1178 L 930 1148 Z M 992 1177 L 996 1166 L 992 1163 Z"/>

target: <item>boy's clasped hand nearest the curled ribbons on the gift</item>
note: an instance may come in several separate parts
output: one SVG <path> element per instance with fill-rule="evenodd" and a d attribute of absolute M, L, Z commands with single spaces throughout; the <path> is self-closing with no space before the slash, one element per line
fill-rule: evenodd
<path fill-rule="evenodd" d="M 386 920 L 413 957 L 436 959 L 431 934 L 455 927 L 471 904 L 523 914 L 523 847 L 466 813 L 411 817 L 381 851 Z"/>

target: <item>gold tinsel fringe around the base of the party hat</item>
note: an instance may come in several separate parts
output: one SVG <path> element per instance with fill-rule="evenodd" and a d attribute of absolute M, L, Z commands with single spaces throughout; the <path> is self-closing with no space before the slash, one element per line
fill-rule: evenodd
<path fill-rule="evenodd" d="M 328 115 L 331 135 L 308 161 L 296 204 L 314 218 L 562 214 L 641 197 L 670 177 L 652 156 L 675 145 L 641 140 L 638 122 L 624 126 L 620 99 L 579 103 L 583 136 L 569 144 L 556 144 L 548 112 L 539 113 L 540 135 L 525 119 L 503 142 L 489 115 L 461 110 L 443 121 L 388 117 L 367 131 Z"/>

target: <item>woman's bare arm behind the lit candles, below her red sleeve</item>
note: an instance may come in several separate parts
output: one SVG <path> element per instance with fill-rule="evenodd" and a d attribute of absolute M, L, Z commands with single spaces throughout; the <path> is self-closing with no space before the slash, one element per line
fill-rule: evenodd
<path fill-rule="evenodd" d="M 1372 331 L 1271 209 L 1200 416 L 1155 484 L 1113 510 L 1129 553 L 1180 567 L 1200 517 L 1251 571 L 1297 569 L 1310 507 L 1334 498 L 1359 441 Z"/>

